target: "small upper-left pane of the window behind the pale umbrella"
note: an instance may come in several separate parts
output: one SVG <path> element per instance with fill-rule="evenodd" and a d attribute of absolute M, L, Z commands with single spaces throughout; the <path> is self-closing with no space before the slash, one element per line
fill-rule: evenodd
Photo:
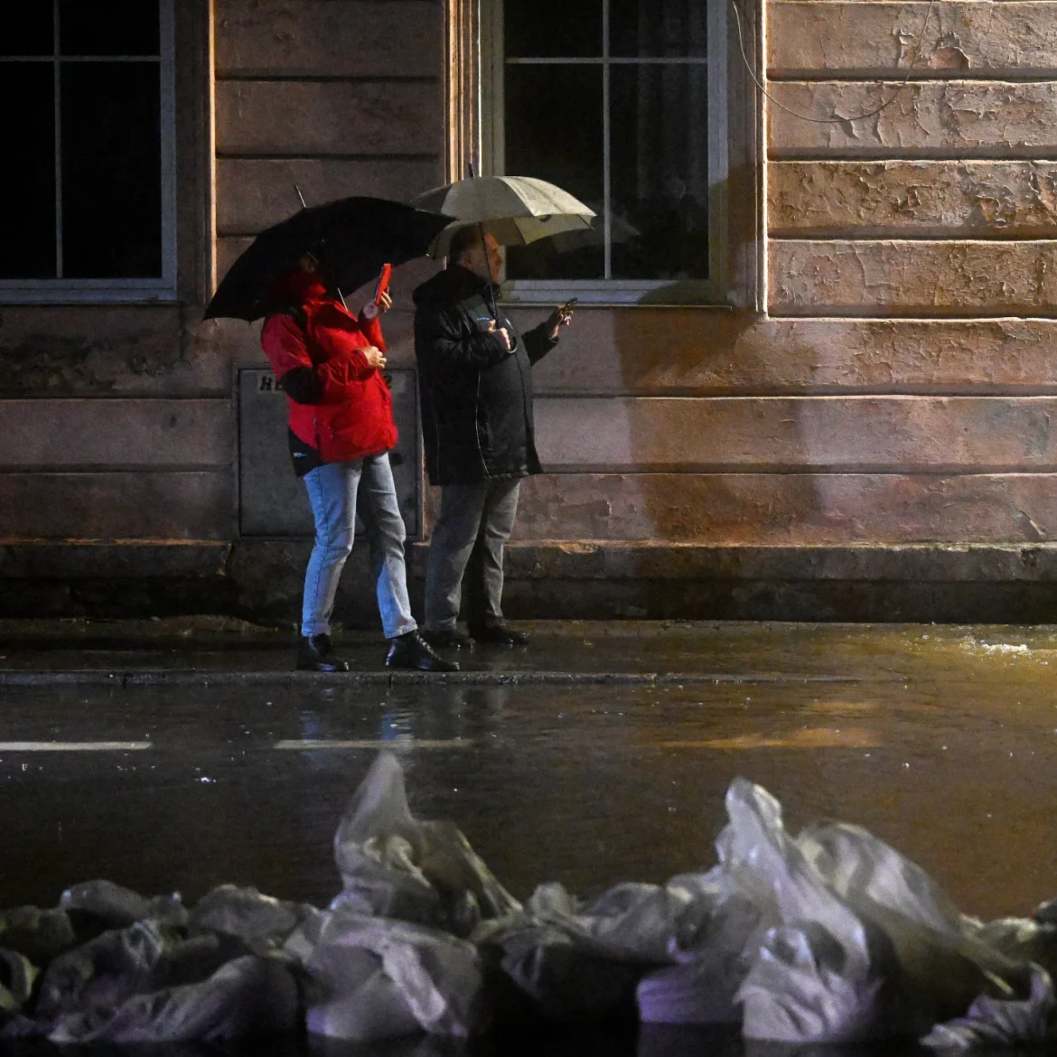
<path fill-rule="evenodd" d="M 503 47 L 517 58 L 601 55 L 601 0 L 506 0 Z"/>

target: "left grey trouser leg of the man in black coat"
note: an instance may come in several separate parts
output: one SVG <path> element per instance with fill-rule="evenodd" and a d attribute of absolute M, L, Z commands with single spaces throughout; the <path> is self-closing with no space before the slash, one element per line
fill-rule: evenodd
<path fill-rule="evenodd" d="M 429 541 L 426 572 L 426 628 L 455 631 L 462 578 L 477 540 L 488 482 L 447 484 L 441 489 L 441 513 Z"/>

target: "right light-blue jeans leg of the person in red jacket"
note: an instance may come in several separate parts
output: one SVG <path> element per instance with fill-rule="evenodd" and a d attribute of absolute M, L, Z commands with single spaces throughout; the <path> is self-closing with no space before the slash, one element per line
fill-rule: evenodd
<path fill-rule="evenodd" d="M 407 532 L 396 500 L 389 455 L 364 460 L 359 481 L 359 515 L 370 537 L 371 573 L 377 585 L 378 612 L 386 638 L 418 627 L 407 596 L 404 540 Z"/>

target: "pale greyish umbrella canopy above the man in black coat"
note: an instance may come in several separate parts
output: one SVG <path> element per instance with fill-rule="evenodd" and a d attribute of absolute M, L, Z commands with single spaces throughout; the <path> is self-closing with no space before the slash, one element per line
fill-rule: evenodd
<path fill-rule="evenodd" d="M 451 236 L 467 224 L 480 224 L 504 245 L 523 245 L 590 228 L 594 217 L 579 199 L 534 177 L 467 177 L 420 194 L 413 204 L 458 221 L 430 246 L 434 257 L 446 254 Z"/>

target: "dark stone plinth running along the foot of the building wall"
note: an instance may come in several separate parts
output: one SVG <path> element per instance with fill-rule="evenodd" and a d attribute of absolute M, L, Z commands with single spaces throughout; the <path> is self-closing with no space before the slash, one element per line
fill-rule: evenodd
<path fill-rule="evenodd" d="M 0 617 L 223 614 L 290 629 L 309 540 L 0 542 Z M 376 628 L 366 546 L 335 618 Z M 422 610 L 428 549 L 409 549 Z M 1057 544 L 710 546 L 514 542 L 512 618 L 1057 623 Z"/>

